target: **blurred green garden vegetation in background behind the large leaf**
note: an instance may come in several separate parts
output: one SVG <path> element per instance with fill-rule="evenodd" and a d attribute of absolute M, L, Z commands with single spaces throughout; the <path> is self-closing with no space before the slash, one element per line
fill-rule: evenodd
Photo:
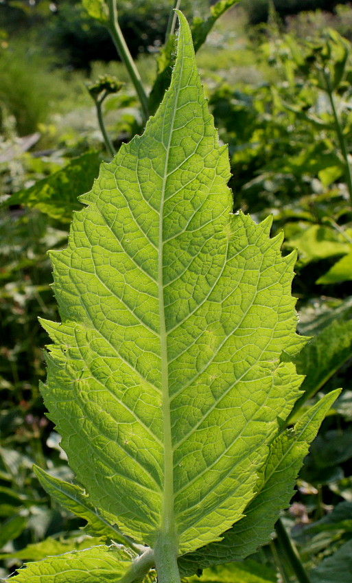
<path fill-rule="evenodd" d="M 148 89 L 171 8 L 171 0 L 119 1 L 119 22 Z M 183 0 L 181 8 L 191 21 L 209 14 L 207 0 Z M 343 387 L 283 516 L 307 571 L 314 569 L 312 583 L 352 582 L 351 41 L 348 2 L 242 0 L 198 52 L 220 139 L 229 144 L 234 209 L 256 220 L 273 214 L 284 252 L 298 249 L 298 330 L 313 337 L 296 362 L 306 375 L 300 413 Z M 64 552 L 69 539 L 77 548 L 82 542 L 84 521 L 49 500 L 32 464 L 72 477 L 38 391 L 47 342 L 38 316 L 58 317 L 46 251 L 65 246 L 77 196 L 109 157 L 86 88 L 99 76 L 110 87 L 112 76 L 124 84 L 104 101 L 118 149 L 141 132 L 143 119 L 106 29 L 79 1 L 0 2 L 2 577 L 23 560 Z M 242 567 L 207 577 L 295 580 L 275 539 Z"/>

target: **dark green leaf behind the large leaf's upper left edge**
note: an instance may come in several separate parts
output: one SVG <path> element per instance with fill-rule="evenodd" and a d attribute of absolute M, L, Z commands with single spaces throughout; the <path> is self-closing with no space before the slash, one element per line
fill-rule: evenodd
<path fill-rule="evenodd" d="M 5 204 L 36 208 L 51 218 L 69 222 L 73 211 L 82 209 L 78 196 L 91 188 L 100 161 L 97 152 L 87 152 L 30 188 L 12 194 Z"/>

